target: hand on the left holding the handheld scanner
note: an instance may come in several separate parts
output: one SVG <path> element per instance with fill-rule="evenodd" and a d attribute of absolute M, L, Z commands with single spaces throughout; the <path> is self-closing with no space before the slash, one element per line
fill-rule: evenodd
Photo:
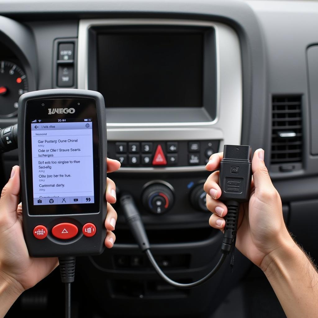
<path fill-rule="evenodd" d="M 107 172 L 120 168 L 120 162 L 107 158 Z M 107 177 L 107 217 L 105 245 L 111 248 L 116 239 L 117 213 L 111 206 L 116 202 L 115 183 Z M 34 286 L 58 266 L 57 258 L 32 258 L 29 256 L 22 226 L 22 206 L 18 205 L 20 168 L 12 168 L 11 177 L 4 186 L 0 199 L 0 280 L 7 281 L 14 293 L 21 294 Z"/>

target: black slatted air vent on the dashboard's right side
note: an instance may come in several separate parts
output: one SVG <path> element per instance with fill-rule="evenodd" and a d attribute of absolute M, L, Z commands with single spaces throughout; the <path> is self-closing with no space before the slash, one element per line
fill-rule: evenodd
<path fill-rule="evenodd" d="M 301 162 L 301 96 L 273 96 L 271 163 Z"/>

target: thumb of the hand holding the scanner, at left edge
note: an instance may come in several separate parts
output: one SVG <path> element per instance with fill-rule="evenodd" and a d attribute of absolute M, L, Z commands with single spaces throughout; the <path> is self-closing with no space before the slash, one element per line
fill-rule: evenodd
<path fill-rule="evenodd" d="M 14 166 L 7 184 L 3 187 L 0 199 L 0 218 L 17 217 L 20 192 L 20 167 Z"/>

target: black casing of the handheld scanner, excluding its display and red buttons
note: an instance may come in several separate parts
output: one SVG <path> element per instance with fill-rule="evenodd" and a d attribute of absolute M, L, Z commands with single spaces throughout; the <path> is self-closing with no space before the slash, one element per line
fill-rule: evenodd
<path fill-rule="evenodd" d="M 56 214 L 56 215 L 31 215 L 29 213 L 28 196 L 32 196 L 30 187 L 27 184 L 27 171 L 31 169 L 32 163 L 27 162 L 26 156 L 26 109 L 27 103 L 31 100 L 45 99 L 91 99 L 95 101 L 97 124 L 98 124 L 98 156 L 99 162 L 99 209 L 94 213 L 81 214 Z M 49 89 L 35 91 L 21 95 L 18 108 L 18 152 L 21 177 L 21 195 L 23 206 L 23 229 L 24 239 L 30 256 L 33 257 L 55 257 L 55 256 L 83 256 L 98 255 L 104 250 L 106 237 L 105 218 L 107 214 L 107 202 L 105 198 L 106 177 L 107 177 L 107 130 L 106 111 L 103 96 L 95 91 L 79 89 Z M 30 171 L 30 170 L 28 170 Z M 30 173 L 30 172 L 29 172 Z M 45 206 L 44 206 L 45 209 Z M 57 239 L 52 235 L 52 227 L 63 222 L 73 223 L 78 227 L 78 234 L 72 239 Z M 96 234 L 86 237 L 82 233 L 82 227 L 86 223 L 93 223 L 96 226 Z M 45 239 L 36 239 L 33 229 L 37 225 L 44 225 L 48 229 Z"/>

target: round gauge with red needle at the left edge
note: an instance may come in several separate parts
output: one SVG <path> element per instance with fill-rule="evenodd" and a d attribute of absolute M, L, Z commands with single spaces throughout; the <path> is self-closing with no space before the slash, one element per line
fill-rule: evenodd
<path fill-rule="evenodd" d="M 26 75 L 17 64 L 0 61 L 0 118 L 17 114 L 20 95 L 28 91 Z"/>

